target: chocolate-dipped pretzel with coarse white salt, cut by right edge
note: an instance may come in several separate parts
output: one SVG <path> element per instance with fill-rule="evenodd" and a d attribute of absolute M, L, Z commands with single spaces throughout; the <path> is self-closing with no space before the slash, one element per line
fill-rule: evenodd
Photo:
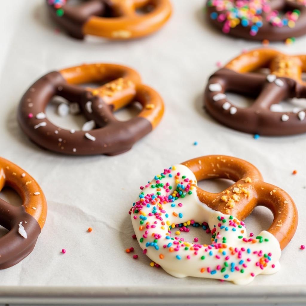
<path fill-rule="evenodd" d="M 262 68 L 269 68 L 270 73 L 256 72 Z M 217 121 L 242 132 L 271 136 L 304 133 L 305 111 L 279 112 L 277 104 L 284 99 L 306 98 L 305 71 L 306 55 L 289 56 L 268 48 L 249 51 L 210 77 L 204 93 L 206 110 Z M 239 108 L 227 100 L 226 91 L 256 100 L 248 108 Z"/>

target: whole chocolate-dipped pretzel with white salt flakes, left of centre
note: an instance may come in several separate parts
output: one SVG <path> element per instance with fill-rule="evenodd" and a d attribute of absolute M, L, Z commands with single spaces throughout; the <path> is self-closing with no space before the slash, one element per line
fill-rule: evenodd
<path fill-rule="evenodd" d="M 77 86 L 103 81 L 108 83 L 99 88 Z M 69 131 L 51 123 L 44 111 L 54 95 L 77 102 L 98 128 Z M 141 112 L 129 121 L 118 121 L 112 112 L 133 101 L 142 104 Z M 73 155 L 115 155 L 128 151 L 151 132 L 163 111 L 162 98 L 141 84 L 135 70 L 121 65 L 90 64 L 51 72 L 36 81 L 21 99 L 18 121 L 32 141 L 48 150 Z"/>

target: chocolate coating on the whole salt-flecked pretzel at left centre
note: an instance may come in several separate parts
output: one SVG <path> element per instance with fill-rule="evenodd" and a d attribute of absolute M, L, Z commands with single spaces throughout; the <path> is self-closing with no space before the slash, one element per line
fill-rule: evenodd
<path fill-rule="evenodd" d="M 60 129 L 47 118 L 35 117 L 45 112 L 45 107 L 54 95 L 79 103 L 88 120 L 95 120 L 99 128 L 88 132 L 95 137 L 95 141 L 86 138 L 84 131 L 71 133 Z M 85 111 L 88 101 L 92 102 L 91 114 Z M 34 116 L 29 118 L 29 113 Z M 34 129 L 35 125 L 43 121 L 47 123 L 46 126 Z M 112 114 L 112 106 L 85 88 L 68 84 L 59 72 L 48 73 L 26 91 L 19 104 L 18 122 L 24 133 L 35 143 L 54 152 L 72 155 L 120 154 L 131 149 L 137 140 L 152 130 L 150 121 L 142 117 L 118 121 Z"/>

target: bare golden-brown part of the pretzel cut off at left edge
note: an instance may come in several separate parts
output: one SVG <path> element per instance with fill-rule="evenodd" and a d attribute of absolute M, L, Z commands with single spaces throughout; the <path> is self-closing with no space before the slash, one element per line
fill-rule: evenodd
<path fill-rule="evenodd" d="M 18 192 L 25 211 L 38 222 L 42 229 L 47 216 L 47 202 L 43 191 L 33 177 L 12 162 L 0 157 L 0 190 L 5 185 Z"/>

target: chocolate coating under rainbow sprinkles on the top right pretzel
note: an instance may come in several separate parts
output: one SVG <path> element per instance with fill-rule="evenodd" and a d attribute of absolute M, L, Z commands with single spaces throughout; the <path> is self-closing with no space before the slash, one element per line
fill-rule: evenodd
<path fill-rule="evenodd" d="M 209 0 L 207 1 L 207 3 Z M 236 0 L 235 0 L 236 2 Z M 228 35 L 240 37 L 248 40 L 259 40 L 268 39 L 269 41 L 282 41 L 290 37 L 299 37 L 306 34 L 306 7 L 299 5 L 293 1 L 288 0 L 271 0 L 271 10 L 278 11 L 292 11 L 293 9 L 300 10 L 301 14 L 295 23 L 295 27 L 290 28 L 289 26 L 273 26 L 266 20 L 266 13 L 263 13 L 263 26 L 259 28 L 259 31 L 255 36 L 250 35 L 251 26 L 243 27 L 241 23 L 235 28 L 230 28 Z M 219 22 L 217 19 L 211 18 L 211 13 L 217 12 L 226 13 L 226 11 L 217 11 L 214 6 L 207 6 L 207 18 L 209 22 L 216 28 L 222 30 L 224 22 Z"/>

